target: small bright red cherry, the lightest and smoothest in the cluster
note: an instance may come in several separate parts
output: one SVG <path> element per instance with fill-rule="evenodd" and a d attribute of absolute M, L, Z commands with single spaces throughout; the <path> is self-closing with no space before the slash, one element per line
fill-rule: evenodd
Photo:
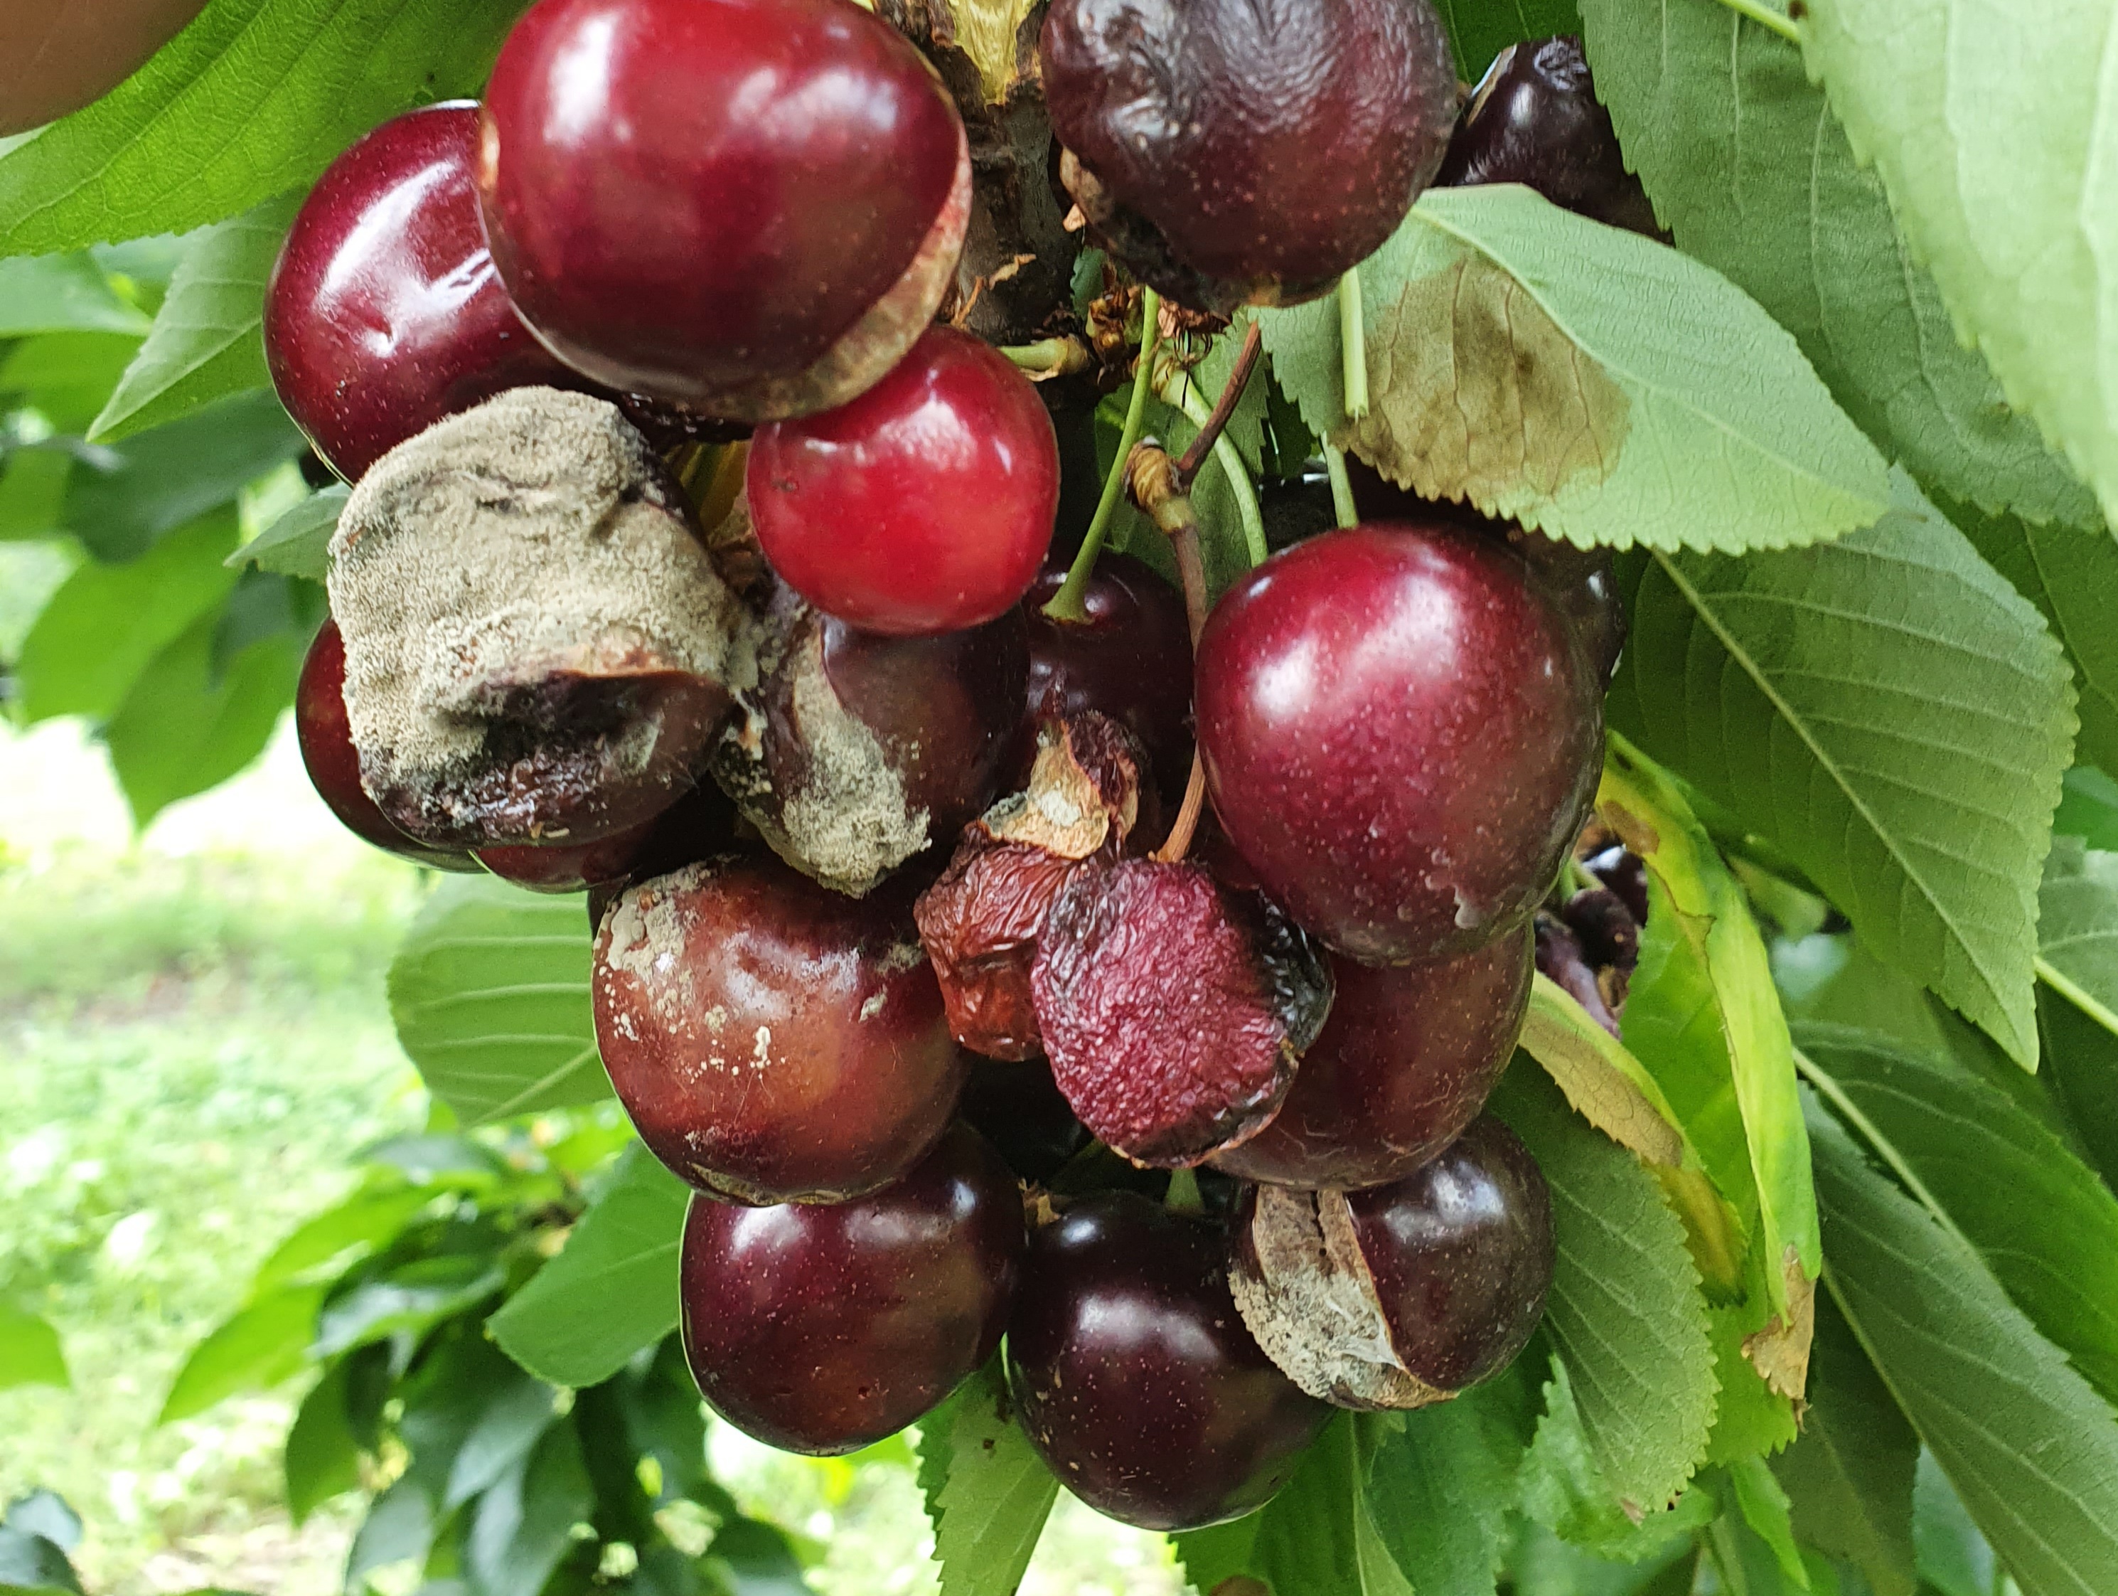
<path fill-rule="evenodd" d="M 851 403 L 758 428 L 748 504 L 773 570 L 826 615 L 892 636 L 962 632 L 1036 579 L 1059 439 L 1004 354 L 932 326 Z"/>

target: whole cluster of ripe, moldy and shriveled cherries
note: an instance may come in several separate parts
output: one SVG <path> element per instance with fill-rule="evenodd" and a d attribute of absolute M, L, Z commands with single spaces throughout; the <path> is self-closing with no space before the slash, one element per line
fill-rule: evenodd
<path fill-rule="evenodd" d="M 1578 49 L 1459 114 L 1428 0 L 1055 0 L 1040 59 L 1055 197 L 1195 312 L 1328 292 L 1444 157 L 1618 218 Z M 1540 1318 L 1480 1111 L 1622 613 L 1372 477 L 1211 613 L 1048 562 L 1048 407 L 949 316 L 972 157 L 849 0 L 540 0 L 349 148 L 267 297 L 354 483 L 297 721 L 369 841 L 589 890 L 716 1412 L 845 1452 L 1006 1340 L 1072 1490 L 1209 1524 Z"/>

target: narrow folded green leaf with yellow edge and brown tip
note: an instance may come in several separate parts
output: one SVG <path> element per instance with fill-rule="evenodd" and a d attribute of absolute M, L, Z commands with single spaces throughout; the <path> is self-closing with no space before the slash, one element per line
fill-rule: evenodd
<path fill-rule="evenodd" d="M 1713 1185 L 1756 1217 L 1766 1301 L 1788 1342 L 1769 1378 L 1800 1397 L 1807 1325 L 1790 1293 L 1807 1299 L 1817 1278 L 1817 1200 L 1764 937 L 1690 803 L 1618 735 L 1597 812 L 1641 856 L 1652 888 L 1625 1041 L 1669 1094 Z"/>

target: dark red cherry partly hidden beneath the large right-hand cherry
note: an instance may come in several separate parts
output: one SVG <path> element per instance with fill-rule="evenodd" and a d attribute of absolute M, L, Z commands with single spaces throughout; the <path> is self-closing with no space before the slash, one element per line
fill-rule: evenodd
<path fill-rule="evenodd" d="M 1273 1123 L 1214 1168 L 1290 1187 L 1398 1181 L 1478 1117 L 1529 1011 L 1531 937 L 1444 964 L 1334 958 L 1339 992 Z"/>

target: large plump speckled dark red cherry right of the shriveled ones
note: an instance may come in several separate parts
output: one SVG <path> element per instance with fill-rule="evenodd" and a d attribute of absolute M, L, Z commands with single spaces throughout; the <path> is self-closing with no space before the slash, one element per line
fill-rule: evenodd
<path fill-rule="evenodd" d="M 1228 841 L 1311 933 L 1432 960 L 1519 926 L 1595 797 L 1601 682 L 1523 557 L 1440 524 L 1326 532 L 1199 638 Z"/>

